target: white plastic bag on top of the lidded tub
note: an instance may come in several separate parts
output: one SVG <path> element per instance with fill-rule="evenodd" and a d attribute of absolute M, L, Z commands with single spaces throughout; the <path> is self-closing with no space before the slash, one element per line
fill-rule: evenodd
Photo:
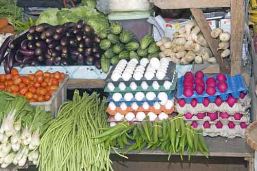
<path fill-rule="evenodd" d="M 97 9 L 105 14 L 124 11 L 148 11 L 153 7 L 148 0 L 97 0 Z"/>

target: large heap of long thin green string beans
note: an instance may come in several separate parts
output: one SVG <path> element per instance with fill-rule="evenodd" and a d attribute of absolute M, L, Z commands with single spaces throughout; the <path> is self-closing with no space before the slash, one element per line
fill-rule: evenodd
<path fill-rule="evenodd" d="M 39 170 L 112 170 L 110 149 L 99 136 L 107 129 L 105 99 L 76 90 L 41 140 Z"/>

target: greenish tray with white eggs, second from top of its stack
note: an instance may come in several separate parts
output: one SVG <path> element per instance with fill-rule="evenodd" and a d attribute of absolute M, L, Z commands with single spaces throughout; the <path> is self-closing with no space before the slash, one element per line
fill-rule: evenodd
<path fill-rule="evenodd" d="M 113 82 L 108 82 L 105 86 L 104 92 L 120 92 L 120 93 L 126 93 L 126 92 L 170 92 L 175 90 L 177 83 L 177 73 L 174 73 L 174 76 L 172 78 L 172 81 L 166 80 L 163 82 L 163 84 L 159 84 L 158 81 L 153 81 L 152 84 L 148 84 L 146 81 L 142 82 L 135 82 L 132 81 L 126 86 L 124 82 L 119 82 L 119 85 L 117 87 L 114 86 Z"/>

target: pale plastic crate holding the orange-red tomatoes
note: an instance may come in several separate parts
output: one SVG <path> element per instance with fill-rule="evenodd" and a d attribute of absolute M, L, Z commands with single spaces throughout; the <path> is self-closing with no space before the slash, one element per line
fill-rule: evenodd
<path fill-rule="evenodd" d="M 30 103 L 33 106 L 41 106 L 43 110 L 50 111 L 53 114 L 53 117 L 57 116 L 59 107 L 67 101 L 67 86 L 66 83 L 69 79 L 69 76 L 66 75 L 66 78 L 59 84 L 59 87 L 56 91 L 53 92 L 52 97 L 49 101 L 45 102 L 32 102 Z"/>

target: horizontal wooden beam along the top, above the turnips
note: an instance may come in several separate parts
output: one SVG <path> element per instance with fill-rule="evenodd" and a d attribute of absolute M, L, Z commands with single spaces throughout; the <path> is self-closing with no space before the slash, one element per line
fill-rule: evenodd
<path fill-rule="evenodd" d="M 150 2 L 154 2 L 154 5 L 160 9 L 230 7 L 230 0 L 151 0 Z"/>

